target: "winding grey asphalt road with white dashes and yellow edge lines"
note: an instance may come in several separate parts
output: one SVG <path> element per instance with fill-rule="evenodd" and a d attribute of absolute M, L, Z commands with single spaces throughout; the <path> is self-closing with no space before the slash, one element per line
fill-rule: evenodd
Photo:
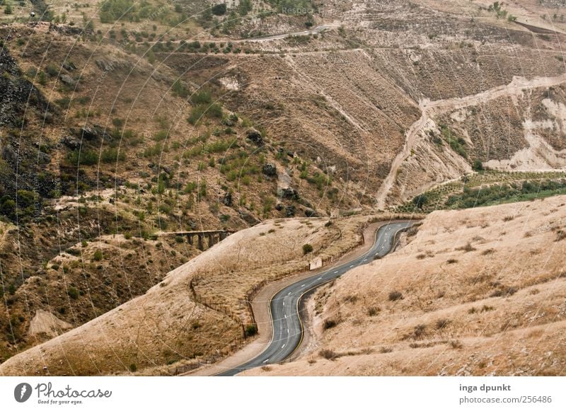
<path fill-rule="evenodd" d="M 381 226 L 376 231 L 374 245 L 360 257 L 338 267 L 308 277 L 291 284 L 279 291 L 270 301 L 272 319 L 272 340 L 270 345 L 258 357 L 237 366 L 221 371 L 216 376 L 235 376 L 236 374 L 258 366 L 275 364 L 287 359 L 301 345 L 303 340 L 303 323 L 299 315 L 302 297 L 318 286 L 340 277 L 359 265 L 368 264 L 376 255 L 383 257 L 393 248 L 395 236 L 415 224 L 412 222 L 395 222 Z"/>

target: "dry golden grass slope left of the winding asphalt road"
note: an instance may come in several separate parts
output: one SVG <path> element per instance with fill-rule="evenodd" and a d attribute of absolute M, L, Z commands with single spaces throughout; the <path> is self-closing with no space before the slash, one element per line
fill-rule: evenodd
<path fill-rule="evenodd" d="M 250 291 L 308 271 L 315 257 L 328 263 L 351 250 L 368 219 L 281 219 L 239 231 L 146 294 L 8 359 L 0 374 L 168 375 L 221 359 L 257 331 L 246 304 Z"/>

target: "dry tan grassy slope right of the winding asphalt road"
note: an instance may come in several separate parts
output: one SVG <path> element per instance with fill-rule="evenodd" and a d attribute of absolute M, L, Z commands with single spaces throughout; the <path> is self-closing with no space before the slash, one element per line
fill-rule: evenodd
<path fill-rule="evenodd" d="M 564 375 L 565 202 L 429 214 L 403 248 L 316 292 L 299 359 L 247 374 Z"/>

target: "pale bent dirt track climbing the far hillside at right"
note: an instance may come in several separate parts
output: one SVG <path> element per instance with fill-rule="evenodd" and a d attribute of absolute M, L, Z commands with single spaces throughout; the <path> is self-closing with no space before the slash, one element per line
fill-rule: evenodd
<path fill-rule="evenodd" d="M 462 98 L 447 98 L 446 100 L 421 100 L 419 108 L 422 115 L 420 119 L 414 122 L 405 133 L 405 145 L 403 146 L 403 151 L 395 157 L 391 164 L 389 174 L 383 181 L 381 187 L 379 187 L 376 197 L 377 208 L 384 209 L 386 207 L 389 193 L 391 192 L 393 185 L 395 185 L 395 178 L 397 177 L 398 170 L 408 156 L 410 156 L 411 150 L 415 146 L 417 135 L 423 127 L 427 125 L 429 120 L 432 120 L 434 117 L 444 114 L 445 112 L 460 110 L 461 108 L 466 108 L 470 105 L 478 105 L 480 103 L 485 103 L 488 100 L 494 100 L 495 98 L 519 95 L 523 91 L 531 88 L 556 86 L 565 82 L 566 74 L 561 74 L 560 76 L 555 77 L 535 77 L 534 79 L 525 79 L 524 77 L 515 76 L 511 83 L 490 88 L 490 90 L 483 91 L 482 93 L 466 95 L 466 97 Z"/>

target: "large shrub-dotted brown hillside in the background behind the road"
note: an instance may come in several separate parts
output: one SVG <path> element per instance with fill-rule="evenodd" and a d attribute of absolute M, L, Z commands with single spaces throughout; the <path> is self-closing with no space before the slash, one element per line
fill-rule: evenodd
<path fill-rule="evenodd" d="M 563 194 L 553 1 L 0 8 L 0 361 L 160 284 L 180 232 Z"/>

